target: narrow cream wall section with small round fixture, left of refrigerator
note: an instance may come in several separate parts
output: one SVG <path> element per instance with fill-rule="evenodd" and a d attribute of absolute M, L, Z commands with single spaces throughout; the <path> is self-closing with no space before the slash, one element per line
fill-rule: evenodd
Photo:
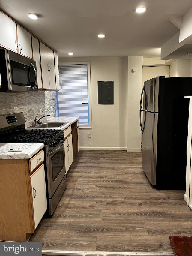
<path fill-rule="evenodd" d="M 128 146 L 127 151 L 141 151 L 140 96 L 143 56 L 128 56 Z M 136 68 L 136 72 L 132 70 Z"/>

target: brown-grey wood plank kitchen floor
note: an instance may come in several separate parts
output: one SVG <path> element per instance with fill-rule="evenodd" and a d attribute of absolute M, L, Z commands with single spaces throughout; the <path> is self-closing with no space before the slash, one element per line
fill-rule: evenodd
<path fill-rule="evenodd" d="M 173 252 L 169 236 L 192 236 L 183 196 L 151 187 L 142 153 L 80 151 L 57 209 L 30 242 L 64 251 Z"/>

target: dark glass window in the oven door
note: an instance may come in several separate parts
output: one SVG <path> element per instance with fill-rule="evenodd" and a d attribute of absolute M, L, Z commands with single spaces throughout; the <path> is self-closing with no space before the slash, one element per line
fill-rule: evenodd
<path fill-rule="evenodd" d="M 58 151 L 54 156 L 51 158 L 52 161 L 52 176 L 53 182 L 57 179 L 57 176 L 64 168 L 64 153 L 63 149 Z"/>

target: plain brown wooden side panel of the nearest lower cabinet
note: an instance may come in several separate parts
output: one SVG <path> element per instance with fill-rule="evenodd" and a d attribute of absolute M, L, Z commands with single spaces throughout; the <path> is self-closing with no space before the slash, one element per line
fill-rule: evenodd
<path fill-rule="evenodd" d="M 31 233 L 24 159 L 0 161 L 0 240 L 26 242 Z"/>

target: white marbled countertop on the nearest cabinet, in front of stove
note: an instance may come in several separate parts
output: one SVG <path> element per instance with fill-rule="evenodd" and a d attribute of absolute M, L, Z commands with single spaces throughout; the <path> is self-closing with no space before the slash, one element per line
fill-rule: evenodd
<path fill-rule="evenodd" d="M 23 148 L 23 151 L 9 152 L 9 149 Z M 0 143 L 0 159 L 29 159 L 40 149 L 44 143 Z"/>

